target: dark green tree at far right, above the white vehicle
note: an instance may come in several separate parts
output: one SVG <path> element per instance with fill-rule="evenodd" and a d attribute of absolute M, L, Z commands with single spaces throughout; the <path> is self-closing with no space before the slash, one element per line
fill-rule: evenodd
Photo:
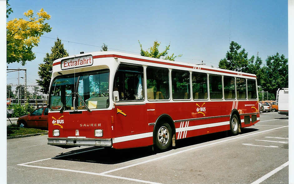
<path fill-rule="evenodd" d="M 261 86 L 264 91 L 276 94 L 278 88 L 288 87 L 288 58 L 277 52 L 276 55 L 267 56 L 267 66 L 264 69 L 264 76 Z"/>

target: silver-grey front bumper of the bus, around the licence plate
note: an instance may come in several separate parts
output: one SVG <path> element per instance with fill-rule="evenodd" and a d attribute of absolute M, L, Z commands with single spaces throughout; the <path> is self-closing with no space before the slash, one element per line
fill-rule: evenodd
<path fill-rule="evenodd" d="M 47 138 L 53 146 L 112 146 L 112 139 L 96 138 Z"/>

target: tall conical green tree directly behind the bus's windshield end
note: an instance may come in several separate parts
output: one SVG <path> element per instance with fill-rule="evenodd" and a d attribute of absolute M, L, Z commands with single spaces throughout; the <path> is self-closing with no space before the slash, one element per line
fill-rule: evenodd
<path fill-rule="evenodd" d="M 43 63 L 39 64 L 39 80 L 36 80 L 38 85 L 41 86 L 41 91 L 45 94 L 49 93 L 50 80 L 52 76 L 52 65 L 53 61 L 61 57 L 68 56 L 67 51 L 64 49 L 61 40 L 57 38 L 54 43 L 54 46 L 51 47 L 51 54 L 46 53 L 46 56 L 43 59 Z"/>

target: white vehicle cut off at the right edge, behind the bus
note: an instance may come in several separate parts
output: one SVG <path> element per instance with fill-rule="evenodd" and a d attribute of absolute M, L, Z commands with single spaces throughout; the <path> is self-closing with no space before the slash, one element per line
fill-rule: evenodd
<path fill-rule="evenodd" d="M 277 95 L 279 114 L 289 115 L 289 89 L 282 88 L 282 90 L 278 90 Z"/>

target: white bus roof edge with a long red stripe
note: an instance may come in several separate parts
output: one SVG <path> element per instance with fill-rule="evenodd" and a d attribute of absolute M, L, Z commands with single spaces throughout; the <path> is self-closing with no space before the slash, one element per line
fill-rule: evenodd
<path fill-rule="evenodd" d="M 170 66 L 177 66 L 181 68 L 187 69 L 196 69 L 196 70 L 204 70 L 204 71 L 211 71 L 211 72 L 220 72 L 223 74 L 232 74 L 232 75 L 240 75 L 240 76 L 247 76 L 247 77 L 253 77 L 256 78 L 256 75 L 244 73 L 244 72 L 237 72 L 232 70 L 225 70 L 220 68 L 214 68 L 209 67 L 205 65 L 197 65 L 197 64 L 190 64 L 190 63 L 184 63 L 184 62 L 178 62 L 178 61 L 169 61 L 169 60 L 163 60 L 163 59 L 157 59 L 157 58 L 151 58 L 151 57 L 145 57 L 145 56 L 139 56 L 139 55 L 133 55 L 128 53 L 122 53 L 122 52 L 114 52 L 114 51 L 96 51 L 96 52 L 89 52 L 89 53 L 83 53 L 83 54 L 77 54 L 72 56 L 67 56 L 63 58 L 59 58 L 55 61 L 53 61 L 53 66 L 61 65 L 61 61 L 64 59 L 70 59 L 70 58 L 77 58 L 82 56 L 88 56 L 92 55 L 93 60 L 97 58 L 122 58 L 122 59 L 129 59 L 129 60 L 135 60 L 135 61 L 143 61 L 147 62 L 146 65 L 149 65 L 148 63 L 157 63 L 157 64 L 163 64 L 163 65 L 170 65 Z M 166 66 L 169 68 L 168 66 Z M 61 71 L 61 67 L 53 67 L 53 72 Z"/>

